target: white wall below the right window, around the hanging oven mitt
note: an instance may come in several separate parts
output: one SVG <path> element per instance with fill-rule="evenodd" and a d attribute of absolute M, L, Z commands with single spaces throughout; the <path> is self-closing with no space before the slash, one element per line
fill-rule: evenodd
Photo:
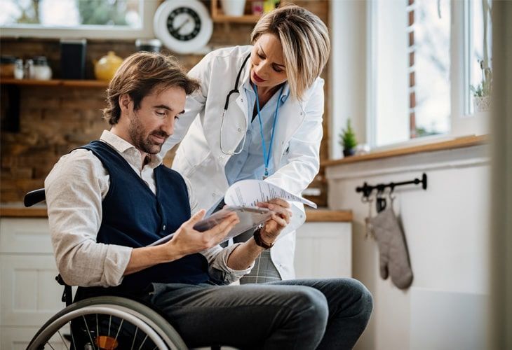
<path fill-rule="evenodd" d="M 329 167 L 330 209 L 353 210 L 353 276 L 375 309 L 356 349 L 485 349 L 489 293 L 490 176 L 487 148 L 473 146 Z M 428 188 L 396 188 L 415 279 L 399 290 L 379 276 L 377 244 L 365 239 L 368 204 L 357 186 L 428 176 Z M 372 207 L 375 215 L 375 207 Z"/>

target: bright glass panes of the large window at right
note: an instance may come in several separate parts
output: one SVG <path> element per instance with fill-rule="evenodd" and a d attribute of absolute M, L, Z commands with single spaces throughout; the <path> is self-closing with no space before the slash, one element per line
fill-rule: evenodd
<path fill-rule="evenodd" d="M 490 0 L 370 1 L 370 146 L 481 133 L 468 127 L 470 86 L 482 79 L 480 62 L 492 61 L 489 8 Z"/>

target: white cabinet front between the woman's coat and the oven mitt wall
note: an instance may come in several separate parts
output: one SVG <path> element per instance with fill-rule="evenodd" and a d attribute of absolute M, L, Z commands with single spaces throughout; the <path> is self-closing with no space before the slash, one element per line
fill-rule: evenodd
<path fill-rule="evenodd" d="M 295 274 L 297 279 L 351 277 L 351 223 L 302 225 L 297 230 Z"/>

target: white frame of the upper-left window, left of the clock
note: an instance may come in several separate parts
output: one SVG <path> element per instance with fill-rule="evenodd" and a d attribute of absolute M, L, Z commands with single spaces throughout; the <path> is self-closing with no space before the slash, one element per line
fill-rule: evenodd
<path fill-rule="evenodd" d="M 77 27 L 43 27 L 37 25 L 18 25 L 0 27 L 0 37 L 31 38 L 88 38 L 88 39 L 135 39 L 154 38 L 153 17 L 158 1 L 140 0 L 142 27 L 132 29 L 128 26 L 80 25 Z"/>

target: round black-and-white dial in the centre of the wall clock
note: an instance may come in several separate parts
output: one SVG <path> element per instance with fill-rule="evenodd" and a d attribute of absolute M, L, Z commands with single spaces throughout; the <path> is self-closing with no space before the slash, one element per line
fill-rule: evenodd
<path fill-rule="evenodd" d="M 167 29 L 177 40 L 189 41 L 201 31 L 201 18 L 192 8 L 178 7 L 169 13 Z"/>

